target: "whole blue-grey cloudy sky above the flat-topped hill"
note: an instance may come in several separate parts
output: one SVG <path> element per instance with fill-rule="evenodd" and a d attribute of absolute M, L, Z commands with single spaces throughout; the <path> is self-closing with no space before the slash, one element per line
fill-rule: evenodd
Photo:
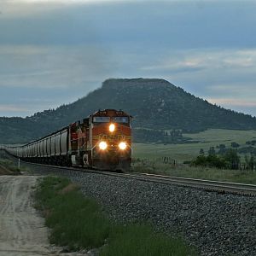
<path fill-rule="evenodd" d="M 0 116 L 109 78 L 166 79 L 256 116 L 256 1 L 0 0 Z"/>

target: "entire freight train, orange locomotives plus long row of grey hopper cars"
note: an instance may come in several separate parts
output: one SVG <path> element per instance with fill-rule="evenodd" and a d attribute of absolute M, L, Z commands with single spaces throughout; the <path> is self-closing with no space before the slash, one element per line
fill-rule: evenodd
<path fill-rule="evenodd" d="M 22 160 L 49 165 L 127 171 L 131 166 L 131 116 L 121 110 L 99 110 L 49 136 L 6 150 Z"/>

